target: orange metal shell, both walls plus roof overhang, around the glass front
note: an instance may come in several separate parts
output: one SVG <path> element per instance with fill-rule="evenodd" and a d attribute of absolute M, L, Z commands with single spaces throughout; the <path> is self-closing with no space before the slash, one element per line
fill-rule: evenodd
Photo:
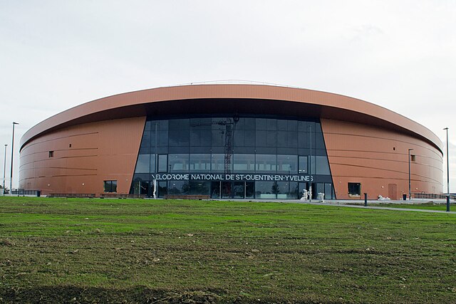
<path fill-rule="evenodd" d="M 442 142 L 417 122 L 343 95 L 239 84 L 140 90 L 49 117 L 21 138 L 19 187 L 98 195 L 103 180 L 115 179 L 128 193 L 146 116 L 212 113 L 320 118 L 338 199 L 350 198 L 348 182 L 371 198 L 408 193 L 408 149 L 412 191 L 442 192 Z M 74 140 L 84 149 L 68 148 Z"/>

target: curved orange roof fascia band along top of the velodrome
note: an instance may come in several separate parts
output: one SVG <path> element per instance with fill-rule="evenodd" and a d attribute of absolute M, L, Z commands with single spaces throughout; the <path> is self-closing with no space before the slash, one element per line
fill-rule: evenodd
<path fill-rule="evenodd" d="M 82 117 L 90 117 L 90 115 L 92 115 L 92 120 L 88 118 L 88 121 L 85 122 L 100 120 L 100 115 L 94 115 L 96 113 L 106 114 L 103 115 L 103 119 L 108 120 L 115 118 L 110 117 L 110 112 L 114 112 L 115 109 L 142 106 L 142 110 L 138 112 L 137 109 L 135 112 L 135 115 L 141 116 L 146 115 L 144 106 L 150 103 L 197 99 L 283 100 L 294 103 L 317 105 L 330 110 L 336 110 L 336 112 L 337 110 L 341 110 L 341 112 L 346 112 L 348 110 L 349 112 L 359 113 L 365 117 L 367 115 L 367 117 L 372 117 L 373 120 L 376 121 L 382 120 L 389 125 L 398 127 L 398 129 L 408 130 L 415 136 L 430 142 L 430 144 L 434 145 L 442 152 L 442 141 L 437 135 L 427 129 L 427 127 L 396 112 L 380 107 L 379 105 L 374 105 L 373 103 L 368 103 L 345 95 L 326 93 L 317 90 L 252 84 L 180 85 L 175 87 L 138 90 L 100 98 L 60 112 L 31 127 L 31 129 L 21 137 L 21 149 L 34 137 L 51 130 L 56 130 L 59 127 L 71 125 L 72 121 L 76 121 Z M 322 117 L 324 117 L 324 114 L 322 114 Z M 337 119 L 334 115 L 332 115 L 332 117 L 330 115 L 328 118 Z M 341 120 L 347 120 L 347 117 L 343 116 L 343 119 Z"/>

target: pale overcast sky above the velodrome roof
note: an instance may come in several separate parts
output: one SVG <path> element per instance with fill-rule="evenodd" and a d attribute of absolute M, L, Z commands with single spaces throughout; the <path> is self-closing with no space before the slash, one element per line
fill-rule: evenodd
<path fill-rule="evenodd" d="M 6 184 L 13 121 L 17 187 L 19 140 L 41 120 L 108 95 L 231 79 L 360 98 L 419 122 L 444 145 L 449 127 L 456 192 L 453 0 L 0 0 Z"/>

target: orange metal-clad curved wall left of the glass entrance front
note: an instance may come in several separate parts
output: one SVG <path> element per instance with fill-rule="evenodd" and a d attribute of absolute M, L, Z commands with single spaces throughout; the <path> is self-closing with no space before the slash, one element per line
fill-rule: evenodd
<path fill-rule="evenodd" d="M 103 180 L 117 180 L 128 193 L 144 124 L 145 117 L 105 120 L 33 138 L 21 150 L 20 187 L 98 196 Z"/>

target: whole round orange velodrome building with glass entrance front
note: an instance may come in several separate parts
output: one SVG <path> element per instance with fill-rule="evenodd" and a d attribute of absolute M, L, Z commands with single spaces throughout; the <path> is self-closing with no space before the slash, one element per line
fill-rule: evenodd
<path fill-rule="evenodd" d="M 410 171 L 409 171 L 410 164 Z M 356 98 L 274 85 L 154 88 L 78 105 L 21 139 L 42 194 L 400 199 L 442 192 L 442 142 Z"/>

